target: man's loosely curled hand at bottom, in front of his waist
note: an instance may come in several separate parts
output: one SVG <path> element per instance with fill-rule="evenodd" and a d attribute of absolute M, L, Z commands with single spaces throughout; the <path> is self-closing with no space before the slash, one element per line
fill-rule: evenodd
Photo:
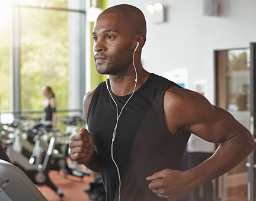
<path fill-rule="evenodd" d="M 149 184 L 149 189 L 153 193 L 169 201 L 176 201 L 193 190 L 190 187 L 189 178 L 186 171 L 165 169 L 152 174 L 146 179 L 152 181 Z"/>

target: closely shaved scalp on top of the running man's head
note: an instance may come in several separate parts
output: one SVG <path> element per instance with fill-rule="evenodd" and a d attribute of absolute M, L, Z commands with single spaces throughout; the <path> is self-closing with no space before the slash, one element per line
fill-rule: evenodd
<path fill-rule="evenodd" d="M 99 17 L 105 14 L 116 14 L 123 18 L 124 25 L 132 34 L 146 35 L 146 20 L 140 9 L 128 4 L 120 4 L 105 9 Z"/>

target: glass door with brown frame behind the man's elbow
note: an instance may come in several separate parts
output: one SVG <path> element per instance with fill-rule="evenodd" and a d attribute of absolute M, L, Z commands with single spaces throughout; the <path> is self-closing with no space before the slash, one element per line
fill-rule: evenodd
<path fill-rule="evenodd" d="M 254 108 L 252 103 L 255 103 L 255 99 L 252 100 L 255 94 L 252 80 L 255 81 L 255 72 L 251 72 L 253 62 L 250 62 L 252 61 L 250 52 L 252 53 L 250 48 L 215 51 L 215 70 L 216 105 L 229 111 L 236 120 L 251 130 L 251 108 Z M 218 180 L 216 197 L 223 201 L 237 200 L 238 197 L 247 200 L 250 188 L 248 186 L 250 161 L 250 157 L 245 158 Z M 251 176 L 254 174 L 252 173 Z"/>

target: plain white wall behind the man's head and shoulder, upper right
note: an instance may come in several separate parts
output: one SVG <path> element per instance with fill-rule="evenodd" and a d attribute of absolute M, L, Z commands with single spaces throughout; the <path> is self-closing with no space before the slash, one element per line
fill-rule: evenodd
<path fill-rule="evenodd" d="M 152 24 L 146 5 L 161 2 L 167 22 Z M 149 72 L 187 67 L 188 88 L 194 80 L 207 79 L 210 102 L 215 101 L 214 50 L 249 47 L 256 42 L 256 1 L 219 0 L 219 15 L 203 15 L 203 0 L 108 0 L 108 5 L 130 4 L 140 8 L 148 22 L 142 51 Z"/>

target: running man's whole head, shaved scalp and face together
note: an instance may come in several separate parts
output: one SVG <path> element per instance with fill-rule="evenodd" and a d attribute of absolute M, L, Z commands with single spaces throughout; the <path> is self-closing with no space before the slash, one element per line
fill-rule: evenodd
<path fill-rule="evenodd" d="M 98 73 L 110 74 L 113 79 L 135 74 L 133 59 L 141 66 L 146 20 L 140 9 L 126 4 L 105 9 L 94 23 L 92 37 Z"/>

